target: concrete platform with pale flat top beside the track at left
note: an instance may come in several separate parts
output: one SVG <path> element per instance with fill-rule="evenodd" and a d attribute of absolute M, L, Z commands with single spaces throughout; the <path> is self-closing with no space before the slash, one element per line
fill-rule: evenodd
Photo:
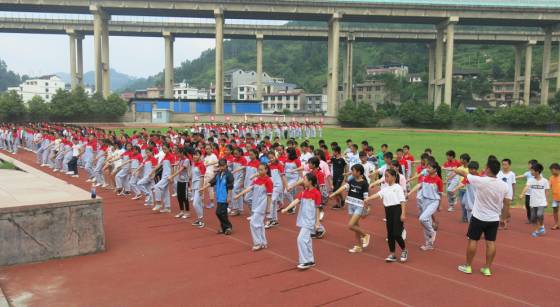
<path fill-rule="evenodd" d="M 101 199 L 12 157 L 0 170 L 0 265 L 105 250 Z"/>

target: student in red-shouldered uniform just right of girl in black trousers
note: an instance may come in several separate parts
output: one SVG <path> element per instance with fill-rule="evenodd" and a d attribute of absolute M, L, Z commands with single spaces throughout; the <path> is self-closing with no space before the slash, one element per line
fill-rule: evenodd
<path fill-rule="evenodd" d="M 427 176 L 408 193 L 409 196 L 418 190 L 418 193 L 421 193 L 422 203 L 418 220 L 424 228 L 424 245 L 420 246 L 423 251 L 433 250 L 436 241 L 437 233 L 433 228 L 432 215 L 438 210 L 443 194 L 443 181 L 437 174 L 437 167 L 436 162 L 430 161 L 426 167 Z"/>

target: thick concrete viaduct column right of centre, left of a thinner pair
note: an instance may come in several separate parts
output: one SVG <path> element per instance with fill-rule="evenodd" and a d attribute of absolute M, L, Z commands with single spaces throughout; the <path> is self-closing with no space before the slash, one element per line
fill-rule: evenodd
<path fill-rule="evenodd" d="M 339 58 L 339 47 L 340 47 L 340 19 L 342 16 L 339 13 L 333 14 L 329 24 L 330 24 L 330 38 L 331 43 L 329 47 L 331 49 L 331 70 L 329 71 L 330 76 L 330 88 L 327 88 L 327 116 L 335 117 L 338 114 L 338 58 Z"/>

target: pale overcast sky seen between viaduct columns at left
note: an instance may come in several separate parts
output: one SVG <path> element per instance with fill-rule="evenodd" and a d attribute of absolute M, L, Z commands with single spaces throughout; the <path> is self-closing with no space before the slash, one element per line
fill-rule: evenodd
<path fill-rule="evenodd" d="M 213 39 L 176 38 L 174 64 L 196 59 L 202 51 L 214 48 Z M 93 70 L 93 39 L 84 39 L 84 71 Z M 66 35 L 0 33 L 0 59 L 19 74 L 38 76 L 68 72 L 69 43 Z M 163 38 L 111 37 L 109 64 L 119 72 L 146 77 L 163 70 Z"/>

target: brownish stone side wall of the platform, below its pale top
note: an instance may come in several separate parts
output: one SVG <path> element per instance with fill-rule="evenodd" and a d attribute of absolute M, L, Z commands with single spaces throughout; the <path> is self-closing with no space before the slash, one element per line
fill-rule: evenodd
<path fill-rule="evenodd" d="M 105 250 L 101 200 L 0 208 L 0 265 Z"/>

